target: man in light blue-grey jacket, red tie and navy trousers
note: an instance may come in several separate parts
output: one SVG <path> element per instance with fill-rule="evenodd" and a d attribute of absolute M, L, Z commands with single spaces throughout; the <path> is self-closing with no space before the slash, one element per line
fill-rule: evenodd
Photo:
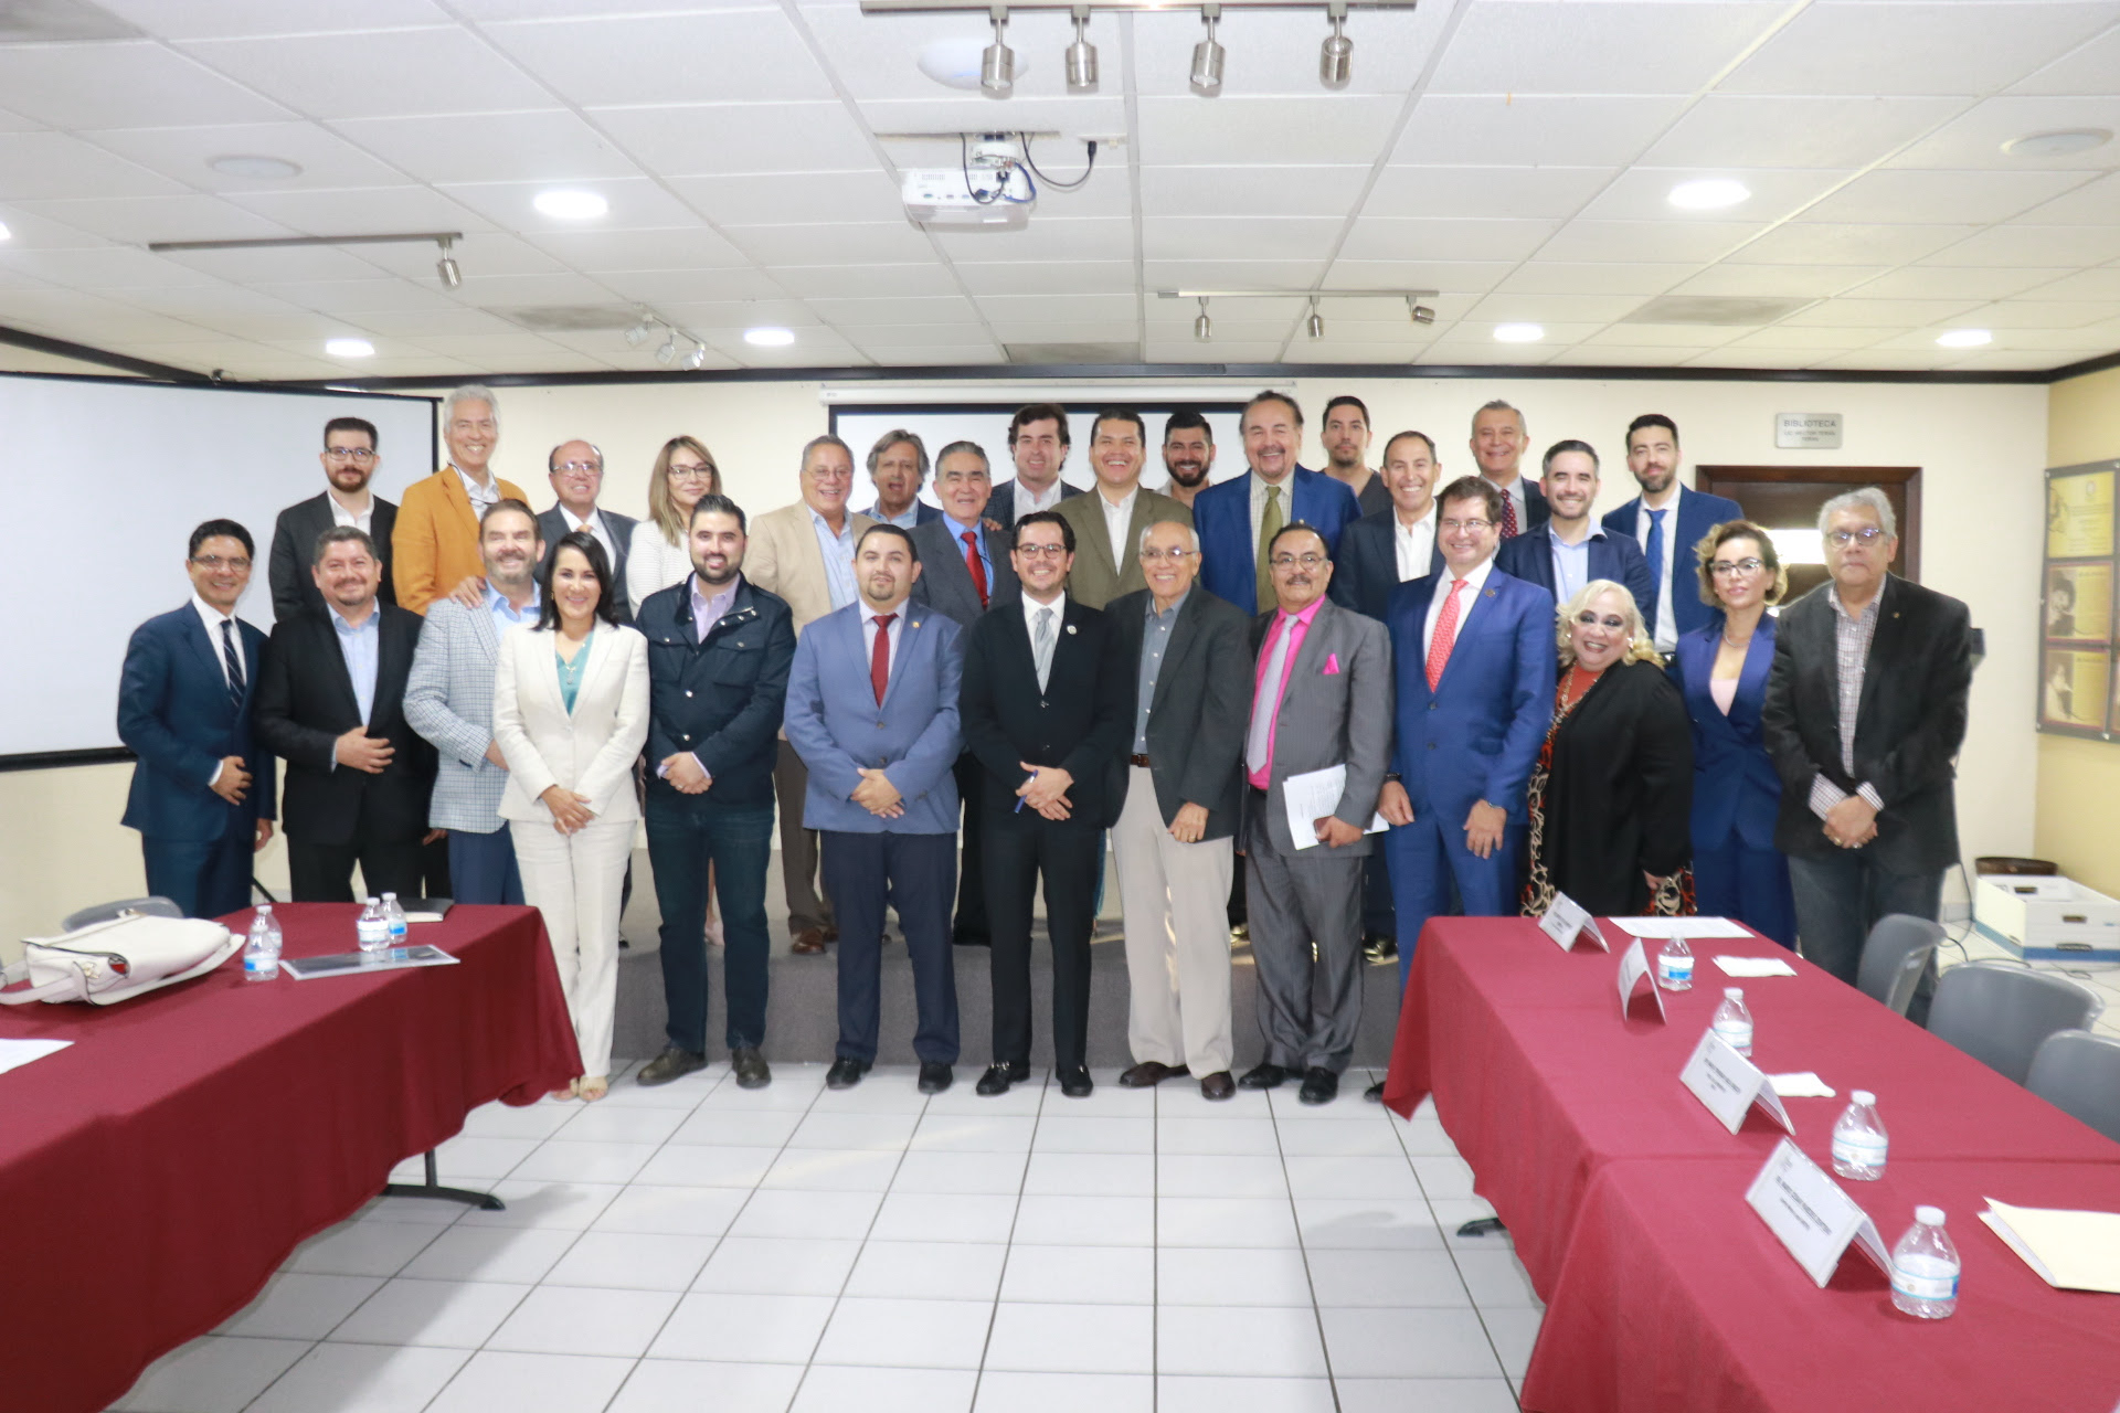
<path fill-rule="evenodd" d="M 854 547 L 861 597 L 814 621 L 789 669 L 787 735 L 810 784 L 803 826 L 823 841 L 825 892 L 840 919 L 840 1044 L 825 1085 L 850 1089 L 876 1063 L 884 898 L 914 964 L 920 1093 L 956 1063 L 956 688 L 965 648 L 948 614 L 909 604 L 920 551 L 899 525 Z"/>

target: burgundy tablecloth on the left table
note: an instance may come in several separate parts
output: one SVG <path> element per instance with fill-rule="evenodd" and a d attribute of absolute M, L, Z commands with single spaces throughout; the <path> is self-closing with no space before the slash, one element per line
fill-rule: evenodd
<path fill-rule="evenodd" d="M 280 909 L 286 955 L 352 951 L 356 915 Z M 581 1072 L 536 911 L 458 907 L 413 941 L 460 964 L 246 983 L 233 958 L 108 1008 L 0 1010 L 0 1036 L 74 1042 L 0 1074 L 0 1407 L 106 1407 L 466 1112 Z"/>

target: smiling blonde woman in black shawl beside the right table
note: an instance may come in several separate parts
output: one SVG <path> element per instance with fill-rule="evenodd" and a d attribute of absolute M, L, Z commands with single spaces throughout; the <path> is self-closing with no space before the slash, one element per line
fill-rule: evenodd
<path fill-rule="evenodd" d="M 1556 892 L 1598 917 L 1694 911 L 1694 746 L 1679 688 L 1624 585 L 1592 578 L 1556 614 L 1554 725 L 1531 771 L 1524 913 Z"/>

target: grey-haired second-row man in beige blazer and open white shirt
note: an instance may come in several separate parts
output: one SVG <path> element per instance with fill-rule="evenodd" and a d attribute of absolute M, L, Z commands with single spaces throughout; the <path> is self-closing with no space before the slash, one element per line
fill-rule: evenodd
<path fill-rule="evenodd" d="M 876 521 L 846 508 L 854 489 L 854 453 L 837 436 L 818 436 L 801 449 L 801 500 L 750 521 L 744 578 L 787 600 L 795 636 L 854 591 L 854 544 Z M 818 892 L 816 830 L 803 828 L 810 771 L 801 756 L 782 750 L 774 763 L 774 799 L 780 805 L 780 881 L 789 898 L 791 951 L 814 955 L 837 936 L 831 905 Z"/>

